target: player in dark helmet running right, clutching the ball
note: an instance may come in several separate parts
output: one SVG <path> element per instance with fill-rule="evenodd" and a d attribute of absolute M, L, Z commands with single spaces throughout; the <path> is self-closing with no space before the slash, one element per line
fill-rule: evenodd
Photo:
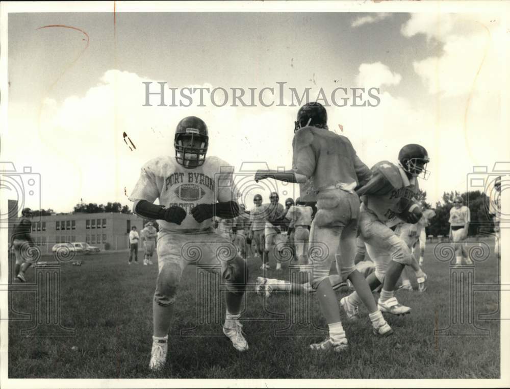
<path fill-rule="evenodd" d="M 406 314 L 410 307 L 399 304 L 394 296 L 395 285 L 405 265 L 411 265 L 412 255 L 407 244 L 395 234 L 401 221 L 415 224 L 420 220 L 420 206 L 413 201 L 418 192 L 418 176 L 428 178 L 427 151 L 419 144 L 407 144 L 398 153 L 398 164 L 381 161 L 372 167 L 373 177 L 357 190 L 362 196 L 360 235 L 375 272 L 368 278 L 372 290 L 382 284 L 377 306 L 382 312 Z M 419 274 L 421 277 L 423 275 Z M 340 300 L 352 319 L 358 316 L 361 298 L 358 293 Z"/>

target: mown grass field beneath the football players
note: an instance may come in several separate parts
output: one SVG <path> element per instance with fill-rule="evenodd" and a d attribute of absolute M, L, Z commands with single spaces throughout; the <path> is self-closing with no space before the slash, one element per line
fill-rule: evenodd
<path fill-rule="evenodd" d="M 492 251 L 492 241 L 486 242 Z M 451 322 L 449 264 L 434 257 L 434 246 L 428 244 L 425 255 L 428 290 L 421 295 L 397 292 L 399 301 L 413 310 L 403 318 L 387 317 L 395 333 L 387 338 L 372 335 L 367 312 L 361 309 L 358 322 L 344 321 L 350 349 L 343 354 L 309 351 L 310 343 L 324 338 L 320 328 L 326 327 L 315 298 L 309 304 L 317 328 L 310 320 L 299 323 L 293 315 L 299 309 L 295 304 L 291 308 L 288 294 L 264 302 L 251 291 L 242 320 L 250 349 L 238 353 L 221 332 L 223 302 L 197 297 L 210 299 L 212 291 L 197 292 L 197 270 L 188 266 L 177 295 L 168 363 L 157 374 L 147 368 L 157 266 L 128 266 L 125 253 L 83 256 L 82 266 L 61 265 L 60 322 L 76 335 L 22 336 L 21 330 L 33 327 L 34 320 L 11 321 L 9 378 L 499 378 L 499 321 L 478 319 L 478 314 L 497 310 L 496 292 L 474 294 L 474 324 L 488 329 L 488 335 L 434 335 L 435 328 Z M 260 259 L 249 258 L 248 263 L 254 283 L 262 272 Z M 476 263 L 475 283 L 497 283 L 497 266 L 494 255 Z M 289 272 L 270 270 L 267 276 L 285 279 Z M 29 270 L 28 281 L 34 278 Z M 347 293 L 344 288 L 337 295 Z M 35 293 L 11 295 L 13 309 L 34 314 Z M 286 333 L 277 333 L 290 324 Z M 296 332 L 301 336 L 289 334 Z M 203 333 L 214 335 L 200 336 Z"/>

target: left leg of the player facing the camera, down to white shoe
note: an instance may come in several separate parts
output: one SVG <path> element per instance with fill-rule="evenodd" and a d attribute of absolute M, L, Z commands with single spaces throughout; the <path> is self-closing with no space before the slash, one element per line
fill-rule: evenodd
<path fill-rule="evenodd" d="M 152 351 L 149 362 L 150 370 L 161 370 L 166 362 L 168 352 L 168 332 L 173 316 L 173 305 L 177 288 L 181 282 L 187 262 L 181 257 L 182 245 L 187 236 L 168 232 L 159 232 L 158 245 L 158 280 L 152 300 Z"/>

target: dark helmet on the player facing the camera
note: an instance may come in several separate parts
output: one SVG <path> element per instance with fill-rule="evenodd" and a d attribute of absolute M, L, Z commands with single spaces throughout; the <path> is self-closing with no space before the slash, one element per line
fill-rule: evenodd
<path fill-rule="evenodd" d="M 203 165 L 209 145 L 206 124 L 196 116 L 185 117 L 175 129 L 173 145 L 177 163 L 187 168 Z"/>

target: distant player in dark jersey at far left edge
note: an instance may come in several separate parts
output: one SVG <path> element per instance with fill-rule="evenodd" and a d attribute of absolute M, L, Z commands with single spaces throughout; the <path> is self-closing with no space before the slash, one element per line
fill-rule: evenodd
<path fill-rule="evenodd" d="M 16 265 L 14 266 L 14 274 L 21 282 L 27 282 L 25 279 L 25 272 L 30 268 L 32 262 L 28 261 L 27 250 L 29 247 L 34 247 L 34 239 L 30 235 L 32 229 L 32 210 L 30 208 L 23 208 L 21 211 L 21 218 L 18 223 L 14 225 L 11 237 L 11 247 L 14 249 L 16 257 Z"/>

